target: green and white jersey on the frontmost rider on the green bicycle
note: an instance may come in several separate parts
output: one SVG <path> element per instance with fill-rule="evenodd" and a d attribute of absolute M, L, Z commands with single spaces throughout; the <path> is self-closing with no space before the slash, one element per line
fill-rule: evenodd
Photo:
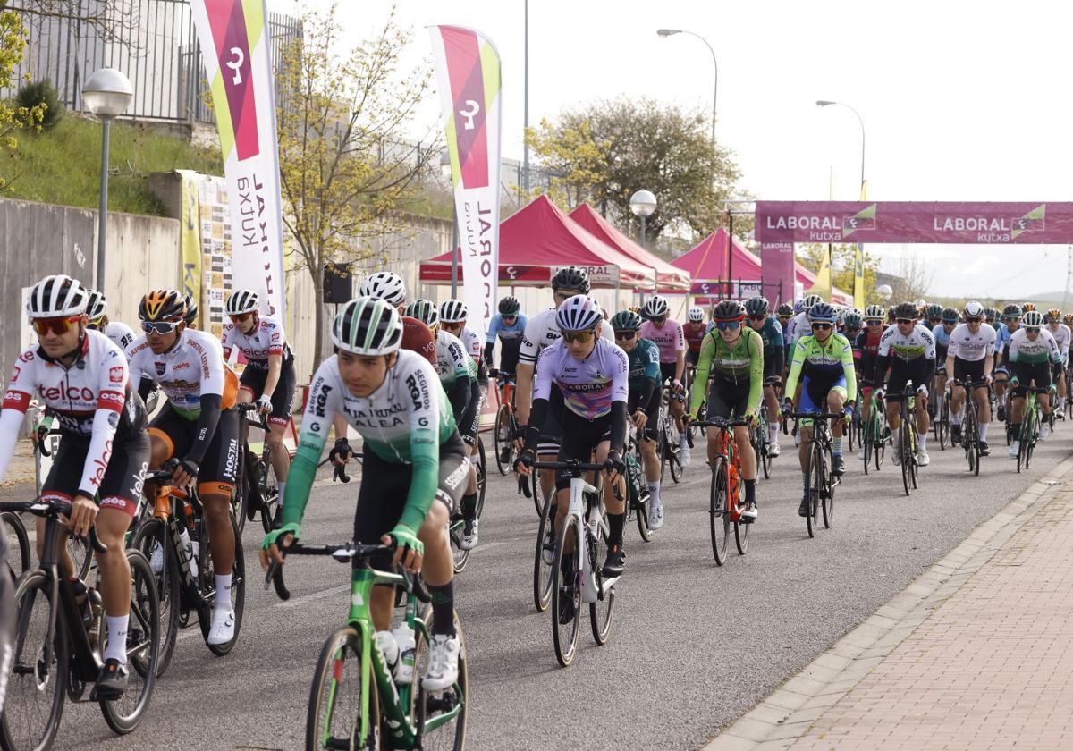
<path fill-rule="evenodd" d="M 380 388 L 356 397 L 343 383 L 338 360 L 338 355 L 324 360 L 309 388 L 283 497 L 283 524 L 302 522 L 332 423 L 342 415 L 362 435 L 366 450 L 384 461 L 413 467 L 400 524 L 421 529 L 436 496 L 440 446 L 455 432 L 443 386 L 424 356 L 399 350 Z"/>

